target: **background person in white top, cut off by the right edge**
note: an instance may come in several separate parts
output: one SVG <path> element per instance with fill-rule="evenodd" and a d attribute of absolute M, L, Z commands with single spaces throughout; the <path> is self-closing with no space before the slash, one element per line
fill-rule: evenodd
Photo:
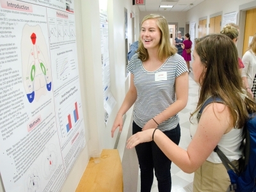
<path fill-rule="evenodd" d="M 253 79 L 256 74 L 256 33 L 253 36 L 248 51 L 244 53 L 242 61 L 244 63 L 244 68 L 242 70 L 243 83 L 247 92 L 249 92 L 253 97 Z"/>

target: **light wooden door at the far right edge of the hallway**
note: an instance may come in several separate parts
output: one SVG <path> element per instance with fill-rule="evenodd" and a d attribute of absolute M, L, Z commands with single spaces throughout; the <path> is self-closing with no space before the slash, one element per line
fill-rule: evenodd
<path fill-rule="evenodd" d="M 256 9 L 246 11 L 243 54 L 248 50 L 249 37 L 256 33 Z"/>

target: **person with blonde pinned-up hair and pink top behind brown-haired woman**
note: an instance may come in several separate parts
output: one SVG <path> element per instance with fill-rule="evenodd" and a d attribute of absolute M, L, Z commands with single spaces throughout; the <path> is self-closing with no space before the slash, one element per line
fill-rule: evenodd
<path fill-rule="evenodd" d="M 237 40 L 239 36 L 239 27 L 237 27 L 237 25 L 227 24 L 223 27 L 220 33 L 223 35 L 227 35 L 229 38 L 231 38 L 231 40 L 234 42 L 235 45 L 237 44 Z M 238 58 L 238 68 L 239 68 L 240 74 L 242 74 L 244 64 L 241 58 Z"/>

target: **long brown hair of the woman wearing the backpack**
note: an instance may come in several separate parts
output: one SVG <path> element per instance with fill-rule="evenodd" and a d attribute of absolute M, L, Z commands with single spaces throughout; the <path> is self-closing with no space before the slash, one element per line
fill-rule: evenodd
<path fill-rule="evenodd" d="M 226 35 L 211 34 L 195 40 L 195 51 L 204 65 L 199 78 L 200 92 L 196 111 L 208 97 L 220 97 L 230 109 L 232 125 L 242 128 L 249 117 L 248 111 L 256 111 L 256 103 L 249 95 L 244 100 L 241 97 L 246 94 L 246 90 L 243 89 L 237 66 L 236 45 Z"/>

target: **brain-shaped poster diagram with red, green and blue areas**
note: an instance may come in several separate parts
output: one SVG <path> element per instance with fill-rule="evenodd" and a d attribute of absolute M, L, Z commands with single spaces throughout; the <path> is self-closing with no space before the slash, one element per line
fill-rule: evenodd
<path fill-rule="evenodd" d="M 47 44 L 39 25 L 24 25 L 21 40 L 22 77 L 28 101 L 38 101 L 51 91 L 51 64 Z"/>

